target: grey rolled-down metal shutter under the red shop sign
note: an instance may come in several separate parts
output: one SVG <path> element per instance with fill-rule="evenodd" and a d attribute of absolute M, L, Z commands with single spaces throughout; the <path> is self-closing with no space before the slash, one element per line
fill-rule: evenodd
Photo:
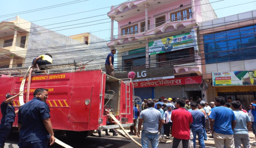
<path fill-rule="evenodd" d="M 182 98 L 182 85 L 155 87 L 155 98 Z"/>

